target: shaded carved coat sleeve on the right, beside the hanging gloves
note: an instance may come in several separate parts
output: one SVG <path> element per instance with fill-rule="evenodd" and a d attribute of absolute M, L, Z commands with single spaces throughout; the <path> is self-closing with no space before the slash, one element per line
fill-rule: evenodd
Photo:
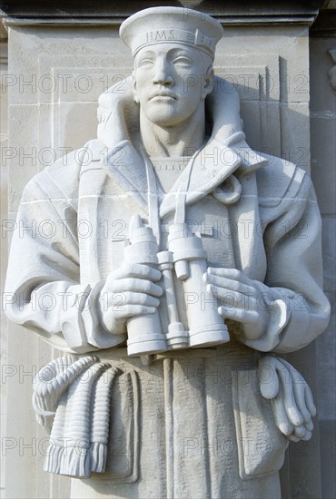
<path fill-rule="evenodd" d="M 321 216 L 308 175 L 295 169 L 276 209 L 264 201 L 267 274 L 259 283 L 270 322 L 264 338 L 245 342 L 261 351 L 286 353 L 308 345 L 328 326 L 330 303 L 322 289 Z M 272 213 L 272 216 L 270 214 Z"/>

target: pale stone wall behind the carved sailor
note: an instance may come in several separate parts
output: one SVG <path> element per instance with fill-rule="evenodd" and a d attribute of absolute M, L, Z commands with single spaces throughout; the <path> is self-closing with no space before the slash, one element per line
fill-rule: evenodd
<path fill-rule="evenodd" d="M 5 143 L 2 156 L 2 175 L 8 169 L 9 211 L 2 216 L 2 242 L 10 240 L 25 183 L 50 161 L 95 136 L 97 97 L 131 69 L 130 54 L 117 34 L 121 20 L 131 12 L 123 12 L 120 2 L 114 2 L 114 7 L 108 2 L 98 3 L 94 12 L 85 3 L 77 9 L 69 7 L 74 9 L 72 12 L 66 6 L 51 12 L 34 10 L 27 3 L 17 4 L 19 11 L 9 8 L 6 19 L 9 142 Z M 136 4 L 133 11 L 164 2 Z M 218 2 L 187 4 L 202 4 L 197 8 L 223 22 L 225 35 L 218 46 L 216 73 L 229 79 L 241 95 L 248 142 L 260 151 L 297 162 L 307 171 L 311 165 L 324 224 L 325 285 L 332 297 L 335 91 L 328 71 L 334 61 L 328 53 L 332 47 L 330 32 L 328 37 L 320 32 L 310 41 L 309 29 L 319 3 L 278 2 L 270 7 L 267 2 L 260 2 L 253 9 L 246 9 L 243 2 L 228 2 L 225 13 Z M 5 257 L 2 265 L 5 266 Z M 2 334 L 5 328 L 4 322 Z M 5 496 L 66 498 L 68 479 L 42 471 L 46 435 L 35 424 L 31 406 L 37 369 L 58 352 L 23 328 L 12 324 L 8 328 L 8 358 L 5 357 L 3 371 L 5 390 L 10 394 L 5 451 L 3 447 Z M 319 428 L 315 427 L 311 442 L 290 446 L 282 469 L 284 497 L 332 496 L 333 332 L 334 323 L 314 345 L 288 357 L 313 388 L 315 382 L 318 386 L 315 399 L 321 440 Z"/>

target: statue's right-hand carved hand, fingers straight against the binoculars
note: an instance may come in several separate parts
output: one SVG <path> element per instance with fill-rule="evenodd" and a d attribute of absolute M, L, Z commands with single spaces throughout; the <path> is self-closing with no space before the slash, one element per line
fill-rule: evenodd
<path fill-rule="evenodd" d="M 262 338 L 268 322 L 268 304 L 254 281 L 237 269 L 209 267 L 203 275 L 206 290 L 219 300 L 223 318 L 242 323 L 246 339 Z"/>

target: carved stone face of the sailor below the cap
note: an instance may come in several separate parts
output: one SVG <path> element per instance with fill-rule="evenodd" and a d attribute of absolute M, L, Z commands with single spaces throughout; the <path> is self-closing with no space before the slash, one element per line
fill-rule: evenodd
<path fill-rule="evenodd" d="M 190 118 L 212 90 L 212 61 L 184 44 L 143 47 L 134 59 L 133 93 L 141 112 L 159 126 Z"/>

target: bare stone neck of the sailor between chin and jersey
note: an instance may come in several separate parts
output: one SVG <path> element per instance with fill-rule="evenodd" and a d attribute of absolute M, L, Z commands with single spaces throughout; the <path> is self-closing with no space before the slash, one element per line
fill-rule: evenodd
<path fill-rule="evenodd" d="M 205 113 L 201 107 L 187 122 L 163 127 L 150 122 L 140 111 L 140 132 L 149 156 L 192 156 L 205 139 Z"/>

